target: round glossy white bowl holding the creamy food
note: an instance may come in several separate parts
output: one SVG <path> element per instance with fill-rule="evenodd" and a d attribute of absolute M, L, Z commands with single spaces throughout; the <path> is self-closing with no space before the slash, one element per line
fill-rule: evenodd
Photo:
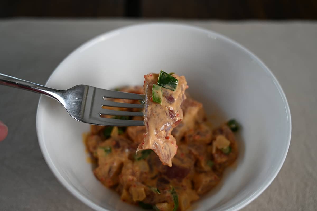
<path fill-rule="evenodd" d="M 215 32 L 151 23 L 100 35 L 70 54 L 47 86 L 67 89 L 87 84 L 104 89 L 143 84 L 149 72 L 184 75 L 188 91 L 209 114 L 215 104 L 242 125 L 237 165 L 222 184 L 191 210 L 238 210 L 273 181 L 290 143 L 291 117 L 286 97 L 270 70 L 249 50 Z M 82 133 L 89 125 L 72 119 L 53 99 L 42 96 L 36 119 L 39 144 L 58 180 L 95 210 L 141 210 L 120 201 L 93 175 Z"/>

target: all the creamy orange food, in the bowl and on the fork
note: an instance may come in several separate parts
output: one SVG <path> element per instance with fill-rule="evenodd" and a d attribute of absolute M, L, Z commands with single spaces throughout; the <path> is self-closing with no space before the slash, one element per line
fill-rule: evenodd
<path fill-rule="evenodd" d="M 91 126 L 85 143 L 97 162 L 94 175 L 122 201 L 146 209 L 184 211 L 213 189 L 236 160 L 238 123 L 212 126 L 202 103 L 186 98 L 184 76 L 161 71 L 144 77 L 143 89 L 120 91 L 146 95 L 145 126 Z"/>

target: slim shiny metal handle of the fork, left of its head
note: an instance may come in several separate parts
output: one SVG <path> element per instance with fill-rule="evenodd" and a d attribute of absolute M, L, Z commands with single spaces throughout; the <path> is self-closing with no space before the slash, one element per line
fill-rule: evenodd
<path fill-rule="evenodd" d="M 24 81 L 19 78 L 15 78 L 12 76 L 7 76 L 0 73 L 0 84 L 10 87 L 15 87 L 19 89 L 25 89 L 28 91 L 36 92 L 42 95 L 46 95 L 54 98 L 55 100 L 61 102 L 61 90 L 52 89 L 46 86 L 42 86 L 40 84 L 32 83 L 29 81 Z"/>

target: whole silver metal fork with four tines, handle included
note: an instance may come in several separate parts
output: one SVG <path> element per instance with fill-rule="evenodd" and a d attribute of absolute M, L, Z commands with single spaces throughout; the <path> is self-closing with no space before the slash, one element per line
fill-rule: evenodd
<path fill-rule="evenodd" d="M 102 106 L 119 108 L 144 107 L 144 95 L 100 89 L 87 85 L 77 85 L 66 90 L 57 90 L 36 83 L 24 81 L 19 78 L 0 73 L 0 84 L 25 89 L 42 95 L 49 96 L 60 102 L 68 114 L 79 122 L 104 126 L 141 126 L 142 120 L 103 118 L 103 115 L 112 116 L 143 116 L 143 112 L 118 111 L 103 109 Z M 140 100 L 141 104 L 113 102 L 105 98 L 118 98 Z"/>

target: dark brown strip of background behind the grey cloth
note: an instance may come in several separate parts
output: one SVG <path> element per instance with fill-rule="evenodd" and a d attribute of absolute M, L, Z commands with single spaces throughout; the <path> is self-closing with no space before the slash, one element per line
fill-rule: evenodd
<path fill-rule="evenodd" d="M 0 0 L 0 17 L 317 19 L 317 0 Z"/>

